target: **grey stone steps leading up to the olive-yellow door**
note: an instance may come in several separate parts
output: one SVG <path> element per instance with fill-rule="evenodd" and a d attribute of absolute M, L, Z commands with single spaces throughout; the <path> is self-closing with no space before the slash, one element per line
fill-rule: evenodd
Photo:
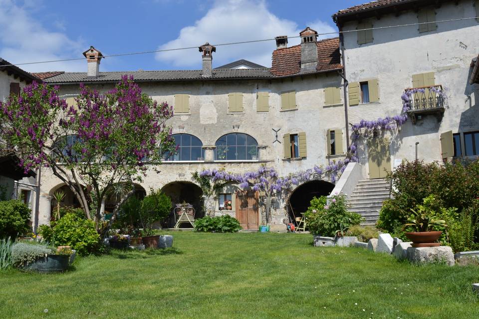
<path fill-rule="evenodd" d="M 383 202 L 389 198 L 390 185 L 385 179 L 360 180 L 349 197 L 349 211 L 361 214 L 362 225 L 375 225 Z"/>

